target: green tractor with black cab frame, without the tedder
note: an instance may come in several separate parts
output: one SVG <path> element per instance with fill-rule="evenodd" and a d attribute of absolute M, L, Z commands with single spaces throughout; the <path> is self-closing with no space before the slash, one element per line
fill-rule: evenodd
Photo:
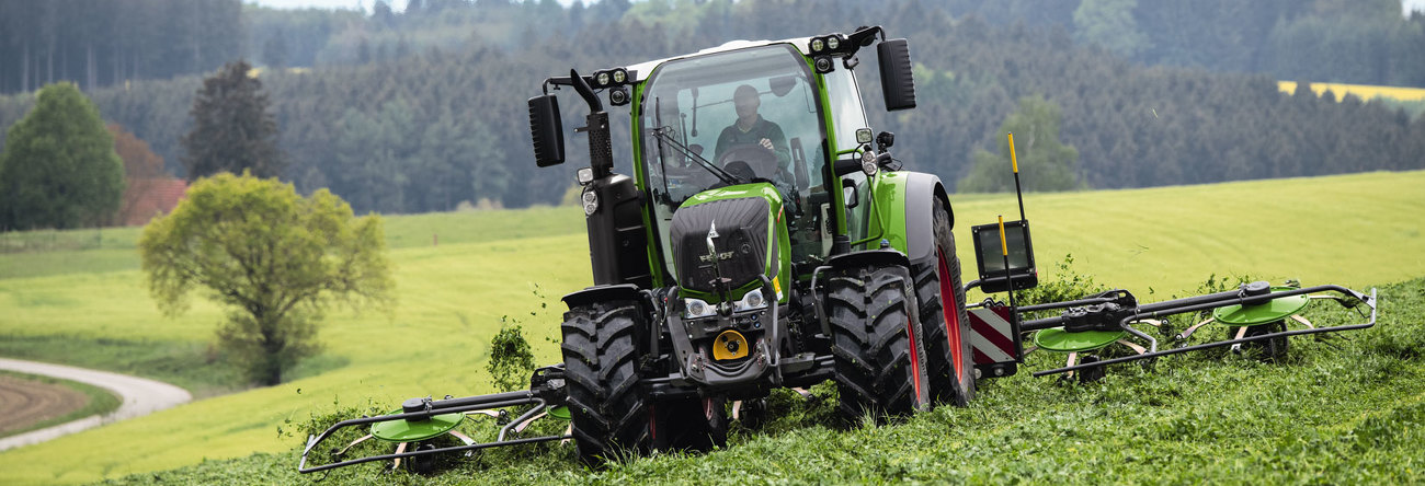
<path fill-rule="evenodd" d="M 570 71 L 529 101 L 540 166 L 564 162 L 549 88 L 590 109 L 594 286 L 561 325 L 580 458 L 721 446 L 727 408 L 828 379 L 848 419 L 973 399 L 950 200 L 872 138 L 854 75 L 872 44 L 886 109 L 913 108 L 908 44 L 881 27 Z M 628 109 L 631 176 L 600 94 Z"/>

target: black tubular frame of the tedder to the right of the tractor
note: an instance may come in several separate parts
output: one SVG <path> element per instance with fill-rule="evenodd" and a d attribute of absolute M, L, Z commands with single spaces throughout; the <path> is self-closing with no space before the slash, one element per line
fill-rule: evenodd
<path fill-rule="evenodd" d="M 1131 327 L 1129 327 L 1129 324 L 1134 323 L 1134 321 L 1140 321 L 1140 320 L 1147 320 L 1147 318 L 1159 318 L 1159 317 L 1164 317 L 1164 315 L 1206 311 L 1206 310 L 1213 310 L 1213 308 L 1220 308 L 1220 307 L 1227 307 L 1227 306 L 1264 304 L 1264 303 L 1268 303 L 1268 301 L 1275 300 L 1275 298 L 1292 297 L 1292 296 L 1304 296 L 1304 294 L 1311 294 L 1311 293 L 1318 293 L 1318 291 L 1335 291 L 1335 293 L 1340 293 L 1344 297 L 1342 298 L 1335 298 L 1335 300 L 1342 307 L 1345 307 L 1345 308 L 1355 308 L 1357 304 L 1359 303 L 1359 304 L 1365 304 L 1367 307 L 1369 307 L 1371 308 L 1371 314 L 1369 314 L 1368 320 L 1364 324 L 1334 325 L 1334 327 L 1315 327 L 1315 328 L 1305 328 L 1305 330 L 1297 330 L 1297 331 L 1268 333 L 1268 334 L 1243 337 L 1243 338 L 1227 340 L 1227 341 L 1207 342 L 1207 344 L 1198 344 L 1198 345 L 1190 345 L 1190 347 L 1181 347 L 1181 348 L 1173 348 L 1173 350 L 1164 350 L 1164 351 L 1153 351 L 1153 352 L 1146 352 L 1146 354 L 1139 354 L 1139 355 L 1131 355 L 1131 357 L 1123 357 L 1123 358 L 1103 360 L 1103 361 L 1096 361 L 1096 362 L 1090 362 L 1090 364 L 1079 364 L 1079 365 L 1063 367 L 1063 368 L 1056 368 L 1056 369 L 1037 371 L 1037 372 L 1035 372 L 1035 377 L 1043 377 L 1043 375 L 1052 375 L 1052 374 L 1060 374 L 1060 372 L 1070 372 L 1070 371 L 1076 371 L 1076 369 L 1084 369 L 1084 368 L 1093 368 L 1093 367 L 1103 367 L 1103 365 L 1110 365 L 1110 364 L 1119 364 L 1119 362 L 1129 362 L 1129 361 L 1139 361 L 1139 360 L 1151 360 L 1151 358 L 1157 358 L 1157 357 L 1163 357 L 1163 355 L 1170 355 L 1170 354 L 1201 351 L 1201 350 L 1218 348 L 1218 347 L 1226 347 L 1226 345 L 1233 345 L 1233 344 L 1241 344 L 1241 342 L 1271 340 L 1271 338 L 1278 338 L 1278 337 L 1290 337 L 1290 335 L 1301 335 L 1301 334 L 1318 334 L 1318 333 L 1334 333 L 1334 331 L 1364 330 L 1364 328 L 1375 325 L 1375 315 L 1377 315 L 1375 288 L 1371 288 L 1371 294 L 1367 296 L 1367 294 L 1362 294 L 1362 293 L 1358 293 L 1355 290 L 1351 290 L 1351 288 L 1347 288 L 1347 287 L 1341 287 L 1341 286 L 1317 286 L 1317 287 L 1308 287 L 1308 288 L 1297 288 L 1297 290 L 1287 290 L 1287 291 L 1273 291 L 1273 293 L 1254 294 L 1254 296 L 1248 296 L 1244 290 L 1233 290 L 1233 291 L 1223 291 L 1223 293 L 1198 296 L 1198 297 L 1187 297 L 1187 298 L 1178 298 L 1178 300 L 1168 300 L 1168 301 L 1153 303 L 1153 304 L 1146 304 L 1146 306 L 1136 307 L 1131 313 L 1129 313 L 1129 315 L 1121 317 L 1119 320 L 1119 325 L 1123 327 L 1123 330 L 1126 330 L 1129 333 L 1133 333 L 1133 334 L 1137 334 L 1137 335 L 1143 337 L 1141 333 L 1136 333 L 1136 330 L 1133 330 Z M 1053 304 L 1050 304 L 1050 306 L 1053 306 Z M 1047 308 L 1053 308 L 1053 307 L 1047 307 Z M 1365 317 L 1361 310 L 1357 310 L 1357 313 L 1362 314 L 1362 317 Z M 1043 330 L 1043 328 L 1064 325 L 1067 321 L 1069 321 L 1067 317 L 1039 318 L 1039 320 L 1025 321 L 1025 324 L 1022 325 L 1022 330 L 1025 330 L 1025 331 Z"/>

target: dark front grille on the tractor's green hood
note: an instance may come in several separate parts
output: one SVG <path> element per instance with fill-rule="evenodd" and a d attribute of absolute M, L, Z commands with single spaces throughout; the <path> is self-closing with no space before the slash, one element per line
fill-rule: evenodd
<path fill-rule="evenodd" d="M 717 246 L 722 277 L 731 280 L 728 287 L 737 288 L 757 280 L 767 263 L 768 213 L 770 206 L 762 198 L 724 199 L 678 209 L 673 215 L 670 232 L 678 286 L 714 291 L 717 270 L 708 257 L 707 244 L 708 230 L 714 225 L 718 237 L 712 239 L 712 244 Z"/>

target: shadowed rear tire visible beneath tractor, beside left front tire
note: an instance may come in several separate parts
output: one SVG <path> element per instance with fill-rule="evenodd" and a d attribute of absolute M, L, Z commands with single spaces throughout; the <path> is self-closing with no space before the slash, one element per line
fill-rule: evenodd
<path fill-rule="evenodd" d="M 658 450 L 708 452 L 727 446 L 727 401 L 680 398 L 653 405 L 653 446 Z"/>

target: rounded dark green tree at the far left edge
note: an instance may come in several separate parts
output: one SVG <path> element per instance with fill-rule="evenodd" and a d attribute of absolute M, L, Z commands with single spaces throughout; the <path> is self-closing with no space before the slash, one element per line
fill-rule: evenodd
<path fill-rule="evenodd" d="M 124 162 L 98 108 L 71 82 L 40 90 L 0 153 L 0 229 L 107 220 L 124 193 Z"/>

